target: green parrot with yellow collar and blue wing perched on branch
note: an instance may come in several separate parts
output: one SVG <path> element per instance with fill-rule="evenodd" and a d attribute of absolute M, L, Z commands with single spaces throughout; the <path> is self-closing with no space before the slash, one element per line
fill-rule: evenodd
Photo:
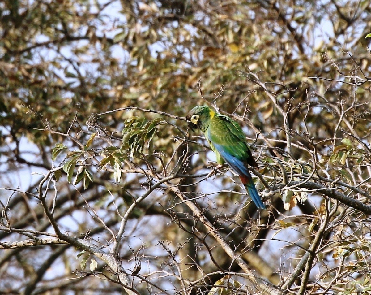
<path fill-rule="evenodd" d="M 217 162 L 220 165 L 227 163 L 236 171 L 256 207 L 265 209 L 247 168 L 247 164 L 257 168 L 257 163 L 240 125 L 230 117 L 218 114 L 207 106 L 194 107 L 187 114 L 187 122 L 191 129 L 201 129 L 216 154 Z"/>

